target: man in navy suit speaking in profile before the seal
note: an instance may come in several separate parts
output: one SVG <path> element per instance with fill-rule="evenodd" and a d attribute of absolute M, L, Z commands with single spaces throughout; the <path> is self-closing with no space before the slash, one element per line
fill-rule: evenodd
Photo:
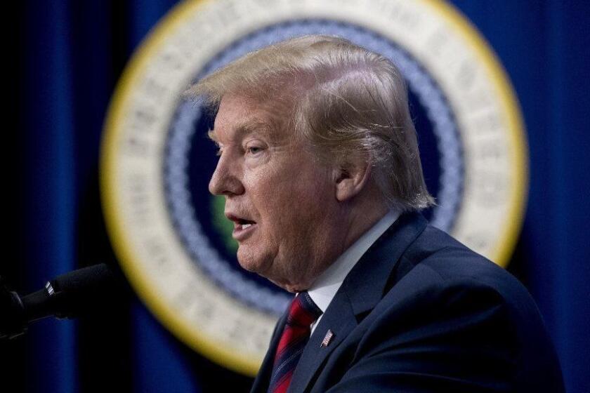
<path fill-rule="evenodd" d="M 250 53 L 192 87 L 217 115 L 209 189 L 237 258 L 296 293 L 252 392 L 562 392 L 535 303 L 419 211 L 407 91 L 330 36 Z"/>

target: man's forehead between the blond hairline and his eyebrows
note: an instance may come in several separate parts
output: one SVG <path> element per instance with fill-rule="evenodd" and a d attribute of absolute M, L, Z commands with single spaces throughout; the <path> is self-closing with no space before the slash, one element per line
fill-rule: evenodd
<path fill-rule="evenodd" d="M 214 129 L 209 137 L 218 142 L 238 140 L 256 133 L 270 139 L 287 138 L 280 110 L 270 103 L 256 102 L 239 95 L 223 96 Z"/>

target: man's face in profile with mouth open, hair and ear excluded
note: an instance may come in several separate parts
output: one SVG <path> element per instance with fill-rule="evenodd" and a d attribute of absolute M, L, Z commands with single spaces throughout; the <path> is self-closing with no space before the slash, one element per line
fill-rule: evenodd
<path fill-rule="evenodd" d="M 280 114 L 225 96 L 211 138 L 219 161 L 209 182 L 225 196 L 240 265 L 288 291 L 302 291 L 343 250 L 332 170 L 308 142 L 285 130 Z"/>

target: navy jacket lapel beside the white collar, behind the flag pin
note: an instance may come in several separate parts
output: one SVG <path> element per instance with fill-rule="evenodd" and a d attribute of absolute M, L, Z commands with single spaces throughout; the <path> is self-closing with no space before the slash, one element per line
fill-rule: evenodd
<path fill-rule="evenodd" d="M 304 392 L 329 354 L 383 298 L 400 256 L 424 231 L 426 224 L 426 219 L 419 213 L 400 216 L 360 258 L 311 335 L 295 369 L 289 392 Z M 322 346 L 328 331 L 332 331 L 332 338 L 328 345 Z"/>

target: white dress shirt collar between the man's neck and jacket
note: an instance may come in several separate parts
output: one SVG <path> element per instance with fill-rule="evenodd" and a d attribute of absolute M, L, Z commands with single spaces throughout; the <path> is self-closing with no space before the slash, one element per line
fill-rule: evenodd
<path fill-rule="evenodd" d="M 400 213 L 398 211 L 391 210 L 384 215 L 379 221 L 376 222 L 367 232 L 362 234 L 342 255 L 336 259 L 332 265 L 330 265 L 320 277 L 317 277 L 308 293 L 311 299 L 315 302 L 317 307 L 322 310 L 322 315 L 311 325 L 311 333 L 315 330 L 315 326 L 322 319 L 323 313 L 326 312 L 330 302 L 338 292 L 338 289 L 342 285 L 344 279 L 355 267 L 356 263 L 360 260 L 363 254 L 367 252 L 369 247 L 384 234 L 384 232 L 391 227 L 393 222 L 398 219 Z"/>

